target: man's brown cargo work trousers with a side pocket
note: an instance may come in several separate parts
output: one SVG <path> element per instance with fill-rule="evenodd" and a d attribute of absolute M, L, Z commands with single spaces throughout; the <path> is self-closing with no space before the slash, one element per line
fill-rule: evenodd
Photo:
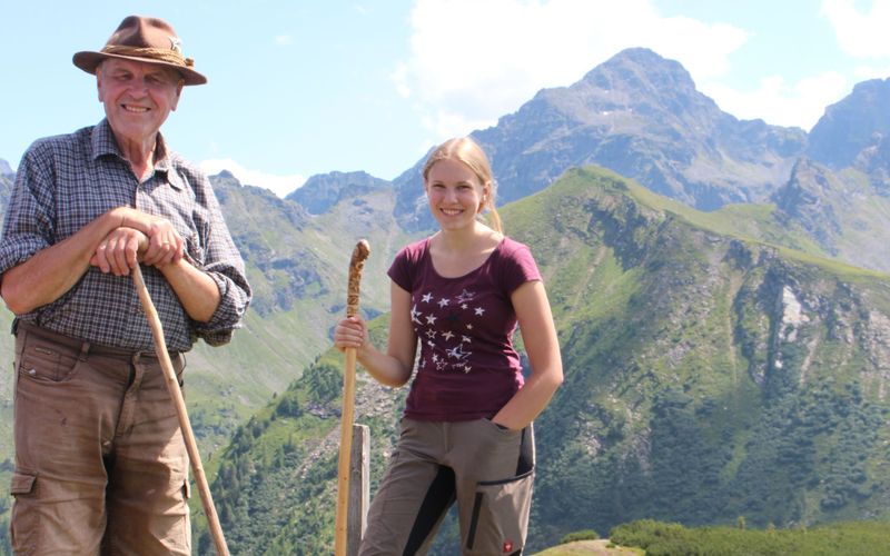
<path fill-rule="evenodd" d="M 188 454 L 154 354 L 20 322 L 16 376 L 13 553 L 190 554 Z"/>

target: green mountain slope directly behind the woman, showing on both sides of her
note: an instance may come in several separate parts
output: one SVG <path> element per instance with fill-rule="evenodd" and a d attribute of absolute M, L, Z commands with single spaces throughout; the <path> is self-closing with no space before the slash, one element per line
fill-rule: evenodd
<path fill-rule="evenodd" d="M 744 239 L 731 217 L 592 168 L 503 216 L 542 267 L 566 370 L 536 424 L 532 549 L 643 517 L 887 518 L 887 276 Z M 330 548 L 340 366 L 327 353 L 220 456 L 215 498 L 234 550 Z M 359 374 L 375 481 L 404 394 Z"/>

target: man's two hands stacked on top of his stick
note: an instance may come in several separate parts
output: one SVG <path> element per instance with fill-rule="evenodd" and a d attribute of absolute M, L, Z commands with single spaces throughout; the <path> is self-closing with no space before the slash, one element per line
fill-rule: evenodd
<path fill-rule="evenodd" d="M 185 241 L 169 220 L 128 207 L 116 210 L 120 227 L 99 241 L 90 265 L 127 276 L 140 261 L 160 268 L 182 258 Z"/>

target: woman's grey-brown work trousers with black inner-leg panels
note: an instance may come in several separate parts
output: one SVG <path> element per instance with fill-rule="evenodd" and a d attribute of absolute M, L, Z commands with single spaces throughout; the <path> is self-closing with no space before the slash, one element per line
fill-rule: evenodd
<path fill-rule="evenodd" d="M 463 555 L 520 555 L 534 480 L 532 426 L 508 430 L 488 419 L 402 419 L 359 555 L 426 554 L 456 502 Z"/>

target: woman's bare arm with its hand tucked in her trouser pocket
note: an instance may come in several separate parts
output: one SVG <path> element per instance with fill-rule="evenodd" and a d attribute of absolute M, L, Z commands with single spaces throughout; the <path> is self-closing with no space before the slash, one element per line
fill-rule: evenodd
<path fill-rule="evenodd" d="M 544 284 L 527 281 L 513 291 L 511 300 L 516 309 L 532 373 L 492 420 L 518 430 L 528 426 L 547 407 L 553 393 L 563 383 L 563 363 Z"/>

